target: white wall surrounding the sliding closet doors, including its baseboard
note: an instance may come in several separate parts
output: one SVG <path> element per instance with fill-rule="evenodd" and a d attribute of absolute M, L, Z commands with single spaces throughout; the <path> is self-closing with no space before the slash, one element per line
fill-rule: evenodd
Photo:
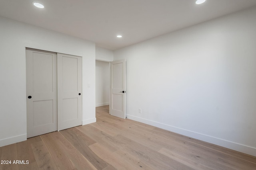
<path fill-rule="evenodd" d="M 26 140 L 25 47 L 82 57 L 83 125 L 96 121 L 94 43 L 5 18 L 0 37 L 0 147 Z"/>

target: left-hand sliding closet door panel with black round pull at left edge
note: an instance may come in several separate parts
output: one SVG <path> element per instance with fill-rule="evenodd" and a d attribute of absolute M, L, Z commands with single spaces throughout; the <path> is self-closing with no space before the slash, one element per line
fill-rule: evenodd
<path fill-rule="evenodd" d="M 27 138 L 57 131 L 56 53 L 26 49 Z"/>

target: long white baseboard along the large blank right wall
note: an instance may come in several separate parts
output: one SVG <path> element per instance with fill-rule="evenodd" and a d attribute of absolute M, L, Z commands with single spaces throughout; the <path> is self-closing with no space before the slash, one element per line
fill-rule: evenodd
<path fill-rule="evenodd" d="M 168 131 L 172 131 L 174 133 L 178 133 L 180 135 L 192 137 L 194 139 L 198 139 L 198 140 L 201 140 L 201 141 L 205 141 L 205 142 L 208 142 L 208 143 L 219 145 L 221 147 L 236 150 L 238 152 L 243 152 L 243 153 L 246 153 L 246 154 L 250 154 L 252 156 L 256 156 L 256 148 L 253 148 L 253 147 L 249 147 L 249 146 L 242 145 L 242 144 L 239 144 L 239 143 L 234 143 L 234 142 L 231 142 L 231 141 L 226 141 L 224 139 L 219 139 L 219 138 L 216 138 L 216 137 L 204 135 L 204 134 L 189 131 L 189 130 L 186 130 L 186 129 L 181 129 L 181 128 L 174 127 L 174 126 L 171 126 L 171 125 L 166 125 L 166 124 L 159 123 L 159 122 L 156 122 L 156 121 L 143 119 L 141 117 L 136 117 L 136 116 L 129 115 L 129 114 L 126 114 L 126 117 L 127 117 L 127 119 L 132 119 L 134 121 L 139 121 L 141 123 L 145 123 L 145 124 L 148 124 L 148 125 L 159 127 L 161 129 L 165 129 L 165 130 L 168 130 Z"/>

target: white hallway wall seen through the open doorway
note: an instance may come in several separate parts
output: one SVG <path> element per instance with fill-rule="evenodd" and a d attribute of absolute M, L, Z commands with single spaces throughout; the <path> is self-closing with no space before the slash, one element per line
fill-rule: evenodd
<path fill-rule="evenodd" d="M 96 60 L 96 107 L 109 105 L 110 63 Z"/>

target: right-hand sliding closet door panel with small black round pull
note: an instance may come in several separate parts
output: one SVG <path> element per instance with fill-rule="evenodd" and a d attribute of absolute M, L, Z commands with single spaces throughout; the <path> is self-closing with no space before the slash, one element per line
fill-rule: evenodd
<path fill-rule="evenodd" d="M 82 125 L 82 57 L 57 54 L 58 131 Z"/>

